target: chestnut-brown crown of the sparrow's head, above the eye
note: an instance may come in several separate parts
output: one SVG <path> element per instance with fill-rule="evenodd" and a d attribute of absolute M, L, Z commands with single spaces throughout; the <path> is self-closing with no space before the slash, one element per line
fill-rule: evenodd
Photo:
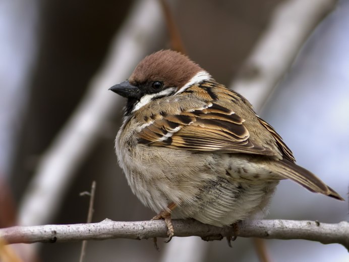
<path fill-rule="evenodd" d="M 145 57 L 129 78 L 132 84 L 162 81 L 167 87 L 182 87 L 203 69 L 187 56 L 172 50 L 160 50 Z"/>

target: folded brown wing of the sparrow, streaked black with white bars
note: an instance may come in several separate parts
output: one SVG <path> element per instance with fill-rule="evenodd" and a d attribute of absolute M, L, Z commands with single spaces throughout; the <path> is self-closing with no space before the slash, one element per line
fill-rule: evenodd
<path fill-rule="evenodd" d="M 215 103 L 179 115 L 159 114 L 144 125 L 139 142 L 196 151 L 275 155 L 250 139 L 245 120 Z"/>

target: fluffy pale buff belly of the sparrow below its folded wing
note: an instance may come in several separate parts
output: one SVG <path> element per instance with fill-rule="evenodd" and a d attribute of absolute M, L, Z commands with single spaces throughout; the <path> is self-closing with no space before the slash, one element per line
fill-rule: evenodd
<path fill-rule="evenodd" d="M 278 183 L 274 177 L 263 179 L 269 172 L 246 165 L 238 154 L 188 154 L 168 148 L 159 152 L 147 146 L 132 155 L 126 150 L 117 153 L 133 193 L 156 213 L 176 203 L 173 219 L 224 226 L 261 218 Z"/>

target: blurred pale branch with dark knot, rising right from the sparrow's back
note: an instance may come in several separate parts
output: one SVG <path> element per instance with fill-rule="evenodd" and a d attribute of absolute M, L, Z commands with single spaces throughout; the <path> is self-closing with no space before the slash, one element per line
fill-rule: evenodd
<path fill-rule="evenodd" d="M 333 10 L 336 0 L 289 0 L 271 18 L 240 74 L 230 88 L 244 95 L 258 111 L 292 65 L 308 36 Z"/>

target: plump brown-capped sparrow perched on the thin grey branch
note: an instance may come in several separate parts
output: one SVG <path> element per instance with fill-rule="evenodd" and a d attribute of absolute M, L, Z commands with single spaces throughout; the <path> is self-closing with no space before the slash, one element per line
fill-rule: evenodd
<path fill-rule="evenodd" d="M 280 180 L 344 200 L 298 166 L 280 135 L 241 94 L 217 83 L 187 56 L 160 50 L 127 81 L 109 88 L 127 98 L 115 139 L 132 192 L 164 219 L 214 226 L 260 219 Z"/>

